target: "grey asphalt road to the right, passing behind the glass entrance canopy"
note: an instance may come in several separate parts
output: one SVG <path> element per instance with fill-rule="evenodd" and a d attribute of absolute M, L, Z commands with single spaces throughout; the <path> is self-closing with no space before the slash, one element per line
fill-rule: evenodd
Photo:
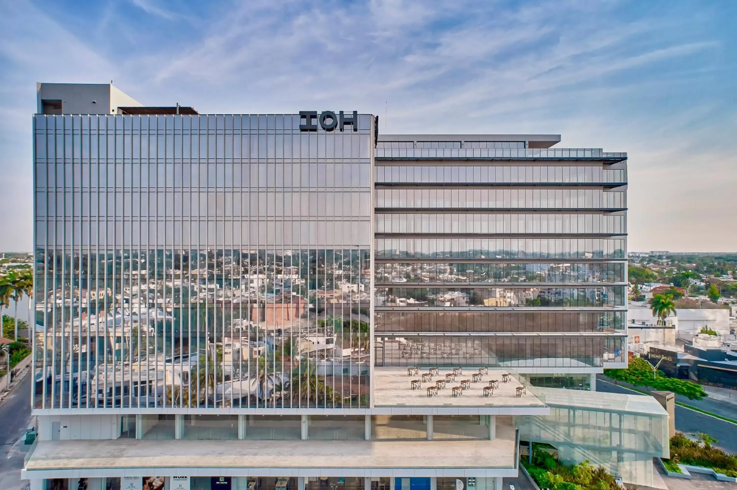
<path fill-rule="evenodd" d="M 624 394 L 638 394 L 634 391 L 630 391 L 622 386 L 615 386 L 613 384 L 605 383 L 601 377 L 596 382 L 596 391 L 604 391 L 607 393 L 624 393 Z M 647 395 L 640 395 L 647 396 Z M 696 405 L 698 400 L 688 400 L 690 405 Z M 681 402 L 682 400 L 678 400 Z M 707 401 L 707 400 L 702 400 Z M 730 419 L 737 419 L 737 407 L 727 402 L 719 402 L 718 400 L 709 400 L 709 408 L 705 408 L 704 404 L 698 405 L 702 410 L 709 410 L 713 413 L 719 413 L 719 415 L 730 417 Z M 713 410 L 713 408 L 719 409 L 719 411 Z M 699 413 L 688 408 L 683 408 L 676 405 L 676 430 L 696 434 L 699 432 L 708 433 L 713 438 L 719 440 L 718 444 L 714 444 L 717 447 L 721 447 L 723 450 L 731 453 L 737 453 L 737 425 L 725 422 L 720 419 Z"/>

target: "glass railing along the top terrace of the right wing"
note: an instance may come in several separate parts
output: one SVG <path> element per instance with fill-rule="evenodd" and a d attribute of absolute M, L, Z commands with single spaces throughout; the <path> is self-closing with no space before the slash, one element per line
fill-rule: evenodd
<path fill-rule="evenodd" d="M 601 158 L 625 160 L 624 152 L 601 148 L 377 148 L 377 158 Z"/>

